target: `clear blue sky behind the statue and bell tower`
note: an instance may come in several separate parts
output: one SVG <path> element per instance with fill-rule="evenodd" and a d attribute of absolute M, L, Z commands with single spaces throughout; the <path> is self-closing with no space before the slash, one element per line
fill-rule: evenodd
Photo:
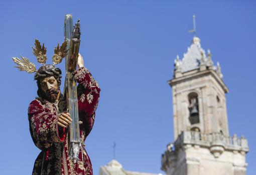
<path fill-rule="evenodd" d="M 94 128 L 86 140 L 94 174 L 113 158 L 126 170 L 162 172 L 161 154 L 173 138 L 171 88 L 176 55 L 187 51 L 197 17 L 201 46 L 220 62 L 229 87 L 230 135 L 244 135 L 248 175 L 256 171 L 255 49 L 253 1 L 3 1 L 1 26 L 1 174 L 31 174 L 33 144 L 28 104 L 37 96 L 33 75 L 14 68 L 21 54 L 36 63 L 31 46 L 53 48 L 64 40 L 65 14 L 81 20 L 80 53 L 101 87 Z M 36 64 L 39 68 L 39 64 Z M 60 65 L 64 71 L 64 63 Z M 162 172 L 163 173 L 163 172 Z"/>

